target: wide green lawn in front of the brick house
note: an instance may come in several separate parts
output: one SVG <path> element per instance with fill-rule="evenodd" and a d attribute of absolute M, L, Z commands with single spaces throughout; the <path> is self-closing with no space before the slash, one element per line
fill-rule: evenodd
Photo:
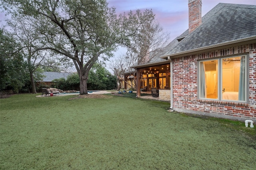
<path fill-rule="evenodd" d="M 256 128 L 242 122 L 137 98 L 35 96 L 0 100 L 1 170 L 256 169 Z"/>

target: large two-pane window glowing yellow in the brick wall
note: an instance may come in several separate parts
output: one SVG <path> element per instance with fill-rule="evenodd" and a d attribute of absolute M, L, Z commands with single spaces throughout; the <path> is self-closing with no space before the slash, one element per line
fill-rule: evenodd
<path fill-rule="evenodd" d="M 199 98 L 247 101 L 247 57 L 198 62 Z"/>

